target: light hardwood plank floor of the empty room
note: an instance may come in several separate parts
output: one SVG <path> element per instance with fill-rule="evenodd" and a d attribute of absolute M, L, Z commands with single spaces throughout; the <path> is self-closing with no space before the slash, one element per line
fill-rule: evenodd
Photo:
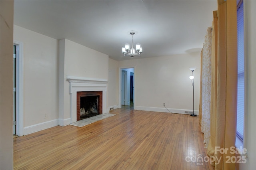
<path fill-rule="evenodd" d="M 53 127 L 14 138 L 14 169 L 208 170 L 198 117 L 115 109 L 85 127 Z M 187 160 L 189 160 L 187 158 Z"/>

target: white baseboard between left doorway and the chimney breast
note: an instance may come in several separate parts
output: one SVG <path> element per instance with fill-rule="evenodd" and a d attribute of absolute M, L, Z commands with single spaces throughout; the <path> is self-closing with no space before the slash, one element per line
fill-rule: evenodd
<path fill-rule="evenodd" d="M 58 119 L 54 119 L 52 121 L 47 121 L 47 122 L 43 122 L 43 123 L 38 123 L 36 125 L 31 125 L 28 127 L 24 127 L 23 134 L 24 135 L 31 134 L 34 132 L 38 132 L 40 130 L 44 130 L 44 129 L 56 127 L 56 126 L 58 126 Z"/>

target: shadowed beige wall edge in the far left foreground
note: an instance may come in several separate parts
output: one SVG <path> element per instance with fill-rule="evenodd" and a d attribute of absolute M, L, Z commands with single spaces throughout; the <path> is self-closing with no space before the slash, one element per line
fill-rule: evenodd
<path fill-rule="evenodd" d="M 0 1 L 0 169 L 13 169 L 13 0 Z"/>

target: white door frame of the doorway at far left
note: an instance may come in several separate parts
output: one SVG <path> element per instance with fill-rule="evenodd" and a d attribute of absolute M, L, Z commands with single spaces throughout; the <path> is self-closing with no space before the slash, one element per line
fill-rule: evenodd
<path fill-rule="evenodd" d="M 16 45 L 16 134 L 23 136 L 23 43 L 14 40 Z"/>

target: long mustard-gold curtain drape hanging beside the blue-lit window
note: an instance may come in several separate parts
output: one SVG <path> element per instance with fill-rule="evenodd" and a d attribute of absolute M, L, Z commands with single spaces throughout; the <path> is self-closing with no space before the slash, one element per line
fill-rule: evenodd
<path fill-rule="evenodd" d="M 235 169 L 228 158 L 236 141 L 237 109 L 237 26 L 236 1 L 218 0 L 212 33 L 212 87 L 210 140 L 207 154 L 220 161 L 212 162 L 216 170 Z M 220 152 L 217 148 L 227 148 Z"/>

